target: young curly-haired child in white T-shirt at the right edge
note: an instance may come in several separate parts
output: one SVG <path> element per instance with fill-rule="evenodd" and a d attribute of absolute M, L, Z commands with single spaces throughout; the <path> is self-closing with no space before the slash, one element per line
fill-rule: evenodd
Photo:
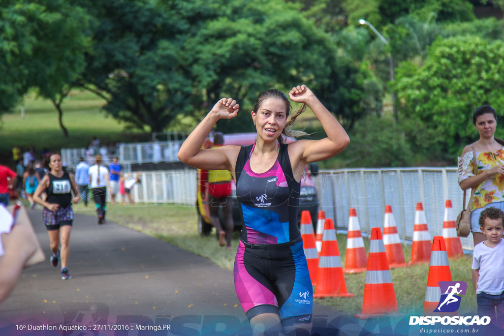
<path fill-rule="evenodd" d="M 478 315 L 489 316 L 496 327 L 504 322 L 504 213 L 497 208 L 481 212 L 479 226 L 486 240 L 474 246 L 472 282 L 476 292 Z"/>

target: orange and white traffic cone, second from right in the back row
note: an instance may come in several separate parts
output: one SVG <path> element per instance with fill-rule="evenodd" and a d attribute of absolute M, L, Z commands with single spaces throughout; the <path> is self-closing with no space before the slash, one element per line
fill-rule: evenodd
<path fill-rule="evenodd" d="M 430 234 L 427 220 L 421 203 L 416 204 L 415 228 L 413 230 L 413 246 L 411 247 L 411 261 L 409 264 L 429 262 L 430 260 Z"/>

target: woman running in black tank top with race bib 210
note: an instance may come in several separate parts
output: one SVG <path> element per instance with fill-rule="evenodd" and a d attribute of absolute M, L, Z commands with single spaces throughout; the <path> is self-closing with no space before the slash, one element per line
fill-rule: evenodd
<path fill-rule="evenodd" d="M 67 267 L 70 254 L 70 232 L 74 222 L 72 201 L 77 203 L 81 195 L 74 175 L 63 169 L 59 154 L 49 156 L 49 169 L 49 173 L 38 184 L 33 200 L 44 207 L 42 221 L 49 234 L 49 246 L 52 251 L 51 265 L 57 267 L 58 260 L 61 259 L 61 279 L 72 279 Z M 42 200 L 40 195 L 44 191 L 47 193 L 47 198 Z"/>

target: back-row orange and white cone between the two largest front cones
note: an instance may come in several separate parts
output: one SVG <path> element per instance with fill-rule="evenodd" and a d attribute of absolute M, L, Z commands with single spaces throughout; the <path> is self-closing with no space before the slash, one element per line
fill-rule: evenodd
<path fill-rule="evenodd" d="M 367 267 L 366 248 L 362 233 L 360 232 L 359 219 L 355 209 L 350 209 L 350 218 L 348 221 L 347 252 L 345 260 L 345 273 L 364 272 Z"/>

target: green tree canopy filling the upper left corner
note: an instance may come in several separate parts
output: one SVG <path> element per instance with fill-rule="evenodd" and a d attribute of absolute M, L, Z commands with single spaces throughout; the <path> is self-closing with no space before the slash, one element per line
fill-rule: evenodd
<path fill-rule="evenodd" d="M 32 87 L 54 98 L 84 68 L 88 16 L 81 8 L 64 0 L 7 0 L 0 18 L 0 111 Z"/>

